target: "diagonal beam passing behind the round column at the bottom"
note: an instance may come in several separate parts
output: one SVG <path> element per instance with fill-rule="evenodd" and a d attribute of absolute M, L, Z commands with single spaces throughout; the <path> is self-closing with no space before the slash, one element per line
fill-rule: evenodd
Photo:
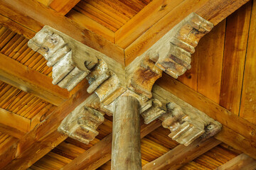
<path fill-rule="evenodd" d="M 148 135 L 150 132 L 161 126 L 161 120 L 155 120 L 149 125 L 143 124 L 141 126 L 141 138 Z M 96 145 L 80 154 L 73 159 L 72 162 L 63 166 L 62 170 L 68 169 L 97 169 L 111 159 L 112 133 L 107 135 L 103 140 Z"/>

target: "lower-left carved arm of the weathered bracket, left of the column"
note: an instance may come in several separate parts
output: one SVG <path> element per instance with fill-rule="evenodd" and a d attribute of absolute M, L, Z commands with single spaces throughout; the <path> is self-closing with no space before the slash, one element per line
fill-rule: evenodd
<path fill-rule="evenodd" d="M 60 124 L 58 131 L 79 140 L 85 144 L 89 144 L 99 134 L 97 127 L 103 123 L 104 114 L 97 111 L 95 108 L 100 109 L 100 102 L 96 95 L 92 95 L 83 103 L 80 104 L 75 110 L 70 113 Z"/>

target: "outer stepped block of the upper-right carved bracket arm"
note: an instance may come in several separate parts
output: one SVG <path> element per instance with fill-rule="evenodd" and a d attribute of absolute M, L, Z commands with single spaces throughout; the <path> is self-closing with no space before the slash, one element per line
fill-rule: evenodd
<path fill-rule="evenodd" d="M 177 79 L 191 68 L 191 54 L 195 52 L 198 41 L 212 28 L 213 23 L 191 13 L 152 45 L 144 55 L 149 55 L 157 67 Z"/>

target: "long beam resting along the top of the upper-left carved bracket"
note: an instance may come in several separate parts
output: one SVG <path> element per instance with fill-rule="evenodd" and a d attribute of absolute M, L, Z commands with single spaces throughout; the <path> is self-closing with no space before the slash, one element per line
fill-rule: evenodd
<path fill-rule="evenodd" d="M 124 64 L 124 50 L 122 48 L 105 40 L 100 35 L 82 28 L 69 18 L 60 16 L 56 11 L 47 8 L 36 0 L 4 0 L 1 1 L 0 11 L 2 16 L 18 23 L 16 26 L 19 28 L 16 30 L 23 26 L 37 33 L 43 26 L 47 25 Z M 5 21 L 2 20 L 2 22 Z M 14 26 L 10 28 L 14 28 Z"/>

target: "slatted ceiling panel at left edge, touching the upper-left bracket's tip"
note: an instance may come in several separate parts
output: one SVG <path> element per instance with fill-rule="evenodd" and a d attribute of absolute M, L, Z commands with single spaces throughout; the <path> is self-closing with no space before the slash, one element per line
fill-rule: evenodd
<path fill-rule="evenodd" d="M 46 65 L 47 60 L 38 52 L 28 47 L 28 39 L 0 26 L 0 52 L 27 67 L 51 77 L 52 68 Z"/>

